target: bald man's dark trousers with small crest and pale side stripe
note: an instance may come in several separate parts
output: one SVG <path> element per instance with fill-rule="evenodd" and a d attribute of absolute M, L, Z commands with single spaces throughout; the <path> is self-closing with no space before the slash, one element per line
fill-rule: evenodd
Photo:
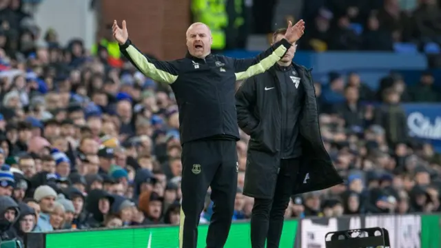
<path fill-rule="evenodd" d="M 237 192 L 236 141 L 201 140 L 183 145 L 180 248 L 196 248 L 198 224 L 211 187 L 213 215 L 208 227 L 207 248 L 223 247 L 234 214 Z"/>

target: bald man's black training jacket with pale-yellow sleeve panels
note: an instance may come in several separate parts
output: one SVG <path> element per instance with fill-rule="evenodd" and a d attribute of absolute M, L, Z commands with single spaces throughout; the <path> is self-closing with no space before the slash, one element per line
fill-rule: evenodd
<path fill-rule="evenodd" d="M 145 76 L 172 87 L 179 108 L 181 143 L 212 136 L 239 138 L 236 81 L 271 68 L 291 47 L 286 39 L 251 59 L 209 54 L 198 59 L 189 53 L 183 59 L 158 61 L 145 56 L 130 42 L 121 52 Z"/>

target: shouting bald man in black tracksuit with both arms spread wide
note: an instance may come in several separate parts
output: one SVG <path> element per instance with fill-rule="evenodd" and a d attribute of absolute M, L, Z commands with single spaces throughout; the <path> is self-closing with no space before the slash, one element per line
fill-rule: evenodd
<path fill-rule="evenodd" d="M 183 146 L 180 248 L 196 248 L 197 227 L 208 187 L 212 189 L 214 207 L 207 247 L 225 245 L 234 214 L 238 176 L 236 81 L 271 68 L 304 30 L 302 20 L 294 26 L 289 23 L 284 39 L 265 52 L 252 59 L 234 59 L 212 54 L 213 39 L 208 26 L 193 23 L 186 34 L 185 58 L 157 61 L 144 56 L 130 42 L 125 21 L 122 28 L 114 21 L 114 38 L 124 56 L 145 76 L 169 84 L 176 96 Z"/>

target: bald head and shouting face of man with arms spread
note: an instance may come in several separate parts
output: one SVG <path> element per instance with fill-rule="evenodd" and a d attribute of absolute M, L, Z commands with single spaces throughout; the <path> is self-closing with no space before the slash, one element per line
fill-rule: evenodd
<path fill-rule="evenodd" d="M 212 50 L 212 34 L 207 25 L 202 23 L 191 25 L 187 30 L 188 52 L 196 58 L 205 58 Z"/>

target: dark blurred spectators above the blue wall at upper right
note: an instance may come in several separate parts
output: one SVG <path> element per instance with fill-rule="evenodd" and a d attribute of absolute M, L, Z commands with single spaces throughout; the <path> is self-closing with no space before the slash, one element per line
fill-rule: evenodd
<path fill-rule="evenodd" d="M 437 0 L 305 1 L 303 50 L 393 50 L 394 43 L 441 45 Z"/>

